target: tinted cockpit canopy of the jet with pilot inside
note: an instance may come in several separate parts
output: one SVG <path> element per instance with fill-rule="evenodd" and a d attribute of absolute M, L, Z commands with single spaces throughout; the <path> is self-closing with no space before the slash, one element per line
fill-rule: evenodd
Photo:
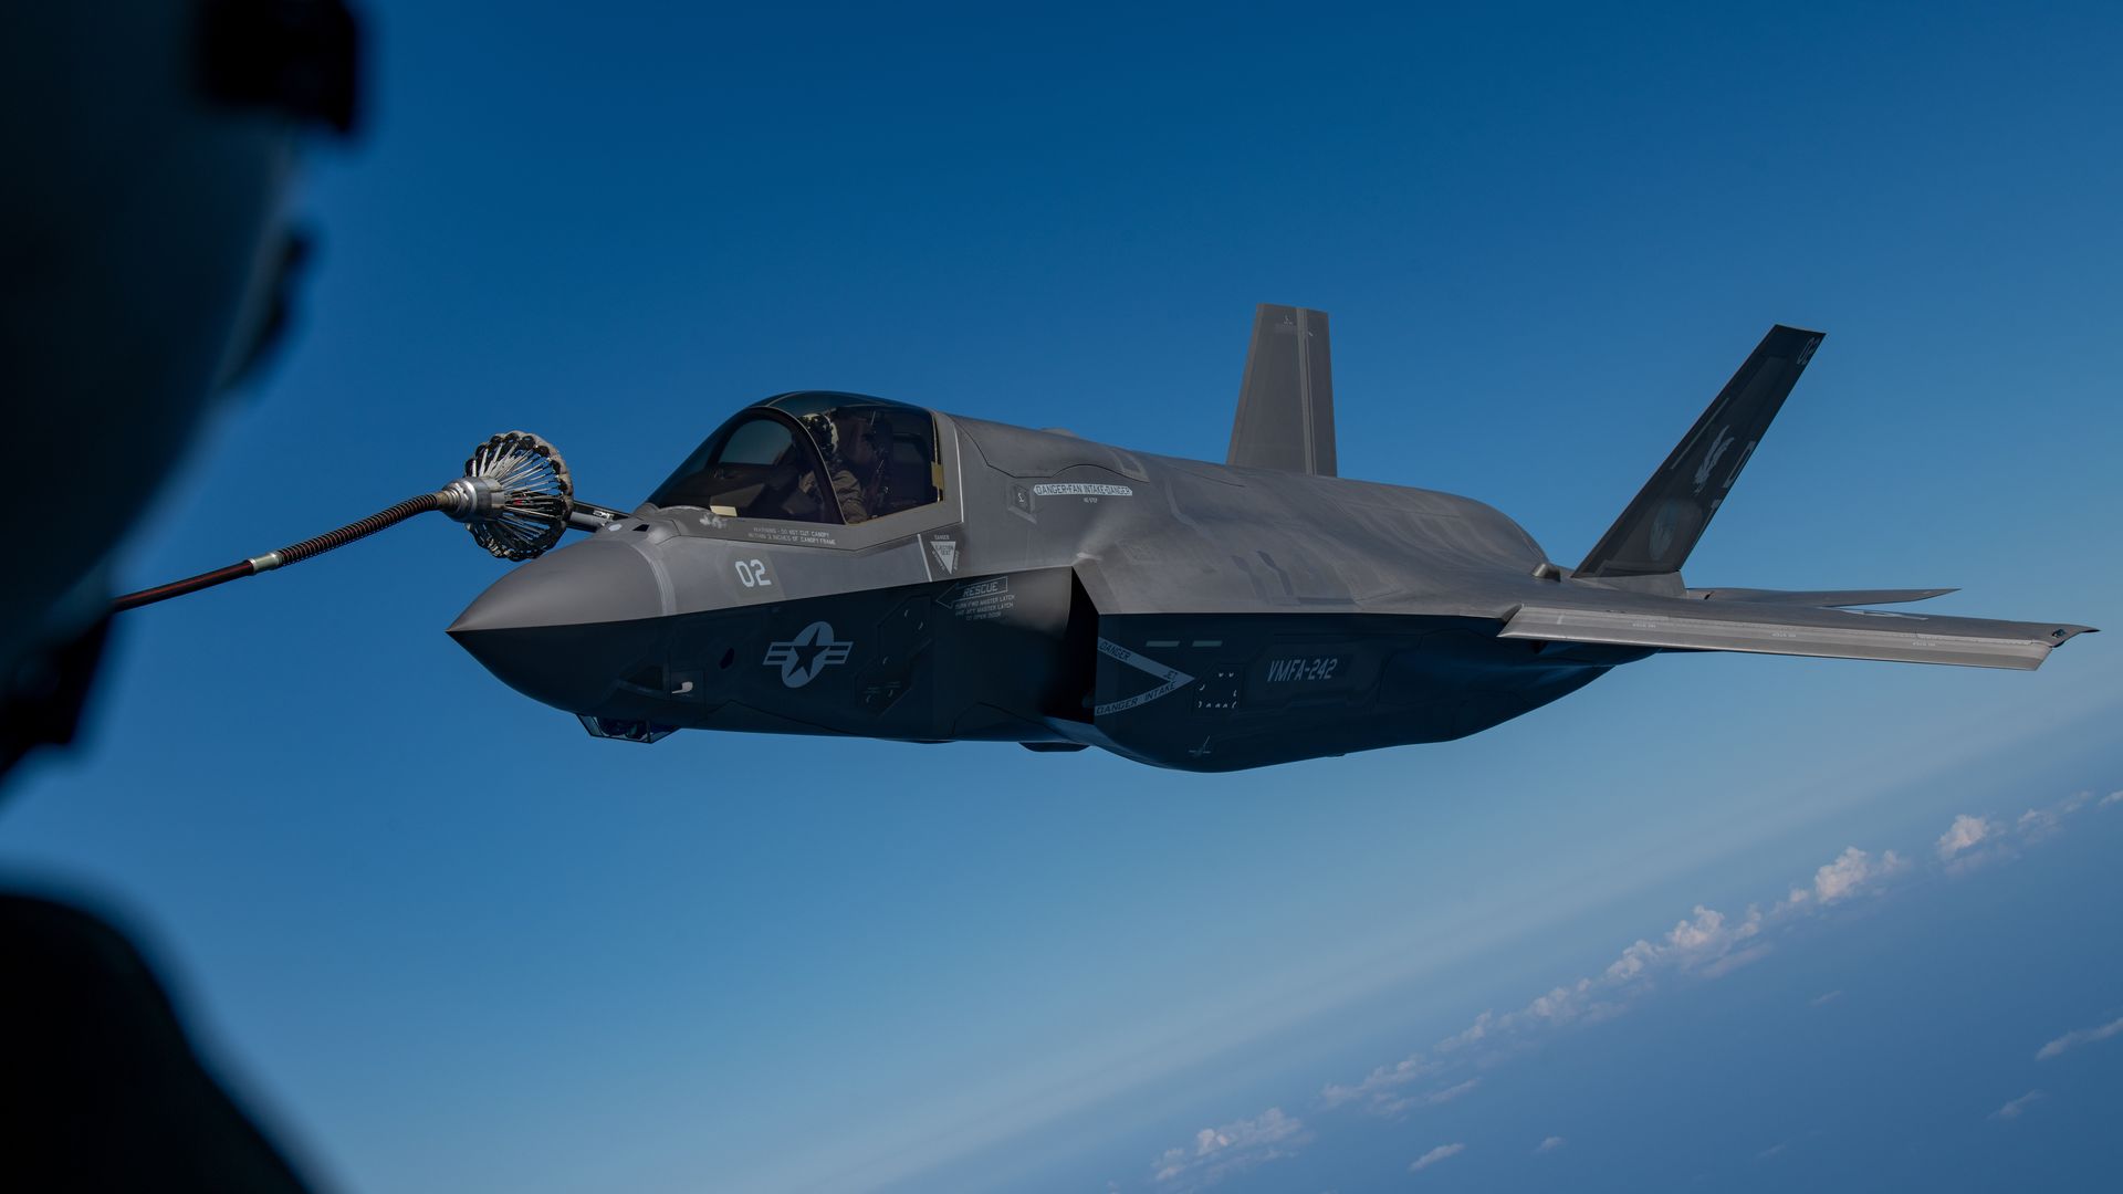
<path fill-rule="evenodd" d="M 739 410 L 707 438 L 652 506 L 730 518 L 868 523 L 943 499 L 936 419 L 860 393 L 783 393 Z"/>

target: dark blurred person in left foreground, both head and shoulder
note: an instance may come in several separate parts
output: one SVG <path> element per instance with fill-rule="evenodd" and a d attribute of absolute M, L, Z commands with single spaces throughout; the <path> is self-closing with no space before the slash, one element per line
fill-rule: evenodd
<path fill-rule="evenodd" d="M 344 0 L 0 6 L 0 442 L 68 510 L 8 546 L 0 775 L 74 737 L 110 550 L 287 327 L 282 195 L 310 134 L 352 130 L 357 53 Z M 108 916 L 0 892 L 0 1190 L 304 1181 Z"/>

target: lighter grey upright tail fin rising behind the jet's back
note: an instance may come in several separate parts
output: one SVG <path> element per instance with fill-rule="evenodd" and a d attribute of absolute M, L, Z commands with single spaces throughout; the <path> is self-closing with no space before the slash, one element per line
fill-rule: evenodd
<path fill-rule="evenodd" d="M 1255 310 L 1225 463 L 1335 476 L 1325 310 L 1265 302 Z"/>

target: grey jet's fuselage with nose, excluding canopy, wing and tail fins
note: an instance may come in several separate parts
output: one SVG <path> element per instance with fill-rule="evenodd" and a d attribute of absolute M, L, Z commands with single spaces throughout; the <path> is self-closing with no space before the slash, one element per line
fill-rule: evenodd
<path fill-rule="evenodd" d="M 1497 637 L 1556 591 L 1465 497 L 934 416 L 858 525 L 641 506 L 450 633 L 592 733 L 1023 741 L 1227 771 L 1475 733 L 1647 650 Z"/>

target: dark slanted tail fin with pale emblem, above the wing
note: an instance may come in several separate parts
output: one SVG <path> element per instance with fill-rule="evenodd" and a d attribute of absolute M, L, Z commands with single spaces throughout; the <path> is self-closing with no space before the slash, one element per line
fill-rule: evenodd
<path fill-rule="evenodd" d="M 1592 555 L 1577 565 L 1577 576 L 1679 572 L 1819 342 L 1819 331 L 1771 327 L 1718 402 L 1607 527 Z"/>

